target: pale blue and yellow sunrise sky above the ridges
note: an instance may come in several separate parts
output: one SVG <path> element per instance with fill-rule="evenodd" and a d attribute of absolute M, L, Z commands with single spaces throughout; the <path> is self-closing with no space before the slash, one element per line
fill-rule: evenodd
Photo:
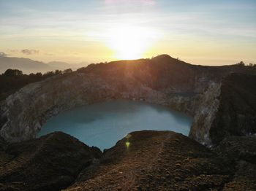
<path fill-rule="evenodd" d="M 0 52 L 68 63 L 160 54 L 256 63 L 256 1 L 0 0 Z"/>

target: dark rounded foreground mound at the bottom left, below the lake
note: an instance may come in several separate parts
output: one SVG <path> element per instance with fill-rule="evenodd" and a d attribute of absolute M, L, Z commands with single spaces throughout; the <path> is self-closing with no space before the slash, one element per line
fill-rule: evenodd
<path fill-rule="evenodd" d="M 61 190 L 102 153 L 64 133 L 1 144 L 0 190 Z"/>

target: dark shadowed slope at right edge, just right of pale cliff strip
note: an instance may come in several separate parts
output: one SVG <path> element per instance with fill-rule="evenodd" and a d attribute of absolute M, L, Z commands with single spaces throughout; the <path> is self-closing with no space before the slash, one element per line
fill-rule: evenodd
<path fill-rule="evenodd" d="M 256 133 L 256 75 L 232 74 L 222 82 L 219 108 L 211 125 L 214 144 L 227 136 Z"/>

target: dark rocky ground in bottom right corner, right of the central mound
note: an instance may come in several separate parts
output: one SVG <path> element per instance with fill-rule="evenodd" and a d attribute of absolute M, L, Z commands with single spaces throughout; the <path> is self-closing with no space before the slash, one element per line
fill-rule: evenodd
<path fill-rule="evenodd" d="M 256 189 L 256 136 L 228 137 L 215 151 L 235 165 L 233 179 L 223 190 Z"/>

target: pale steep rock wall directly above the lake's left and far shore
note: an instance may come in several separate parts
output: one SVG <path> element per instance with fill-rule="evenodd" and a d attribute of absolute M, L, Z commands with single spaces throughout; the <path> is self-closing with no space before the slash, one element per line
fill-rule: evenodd
<path fill-rule="evenodd" d="M 75 72 L 28 85 L 10 95 L 1 103 L 0 135 L 12 142 L 33 139 L 42 124 L 60 112 L 118 98 L 167 106 L 175 103 L 180 109 L 185 109 L 189 101 L 189 98 L 170 98 L 133 80 L 108 82 L 101 77 Z"/>

